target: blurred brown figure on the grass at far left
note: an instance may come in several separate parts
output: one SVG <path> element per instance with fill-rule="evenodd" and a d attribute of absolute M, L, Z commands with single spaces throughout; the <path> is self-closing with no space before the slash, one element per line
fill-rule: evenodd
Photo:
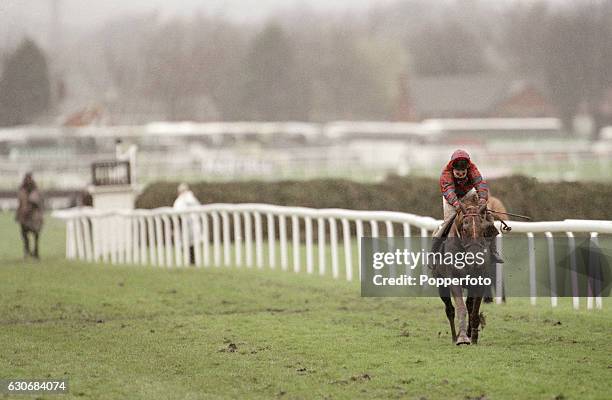
<path fill-rule="evenodd" d="M 43 224 L 43 199 L 31 173 L 27 173 L 17 192 L 19 205 L 15 220 L 21 225 L 24 257 L 39 258 L 38 237 Z M 34 237 L 34 249 L 30 249 L 30 233 Z"/>

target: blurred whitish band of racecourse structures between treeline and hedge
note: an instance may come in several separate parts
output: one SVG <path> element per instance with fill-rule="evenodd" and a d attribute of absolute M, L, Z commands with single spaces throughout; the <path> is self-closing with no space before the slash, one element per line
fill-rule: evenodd
<path fill-rule="evenodd" d="M 606 138 L 570 138 L 555 118 L 20 126 L 0 130 L 0 189 L 15 187 L 29 170 L 43 187 L 82 189 L 90 183 L 92 163 L 114 158 L 117 140 L 138 146 L 141 184 L 433 176 L 458 146 L 467 148 L 488 176 L 530 171 L 548 180 L 607 180 L 612 139 Z"/>

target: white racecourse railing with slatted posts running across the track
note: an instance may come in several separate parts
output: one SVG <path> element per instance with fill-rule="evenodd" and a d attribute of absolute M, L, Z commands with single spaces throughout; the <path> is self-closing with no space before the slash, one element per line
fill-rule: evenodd
<path fill-rule="evenodd" d="M 417 232 L 422 248 L 427 248 L 428 234 L 441 223 L 434 218 L 401 212 L 267 204 L 209 204 L 187 211 L 74 208 L 55 211 L 53 215 L 67 223 L 68 259 L 164 267 L 183 267 L 192 262 L 196 267 L 276 268 L 280 265 L 283 270 L 291 266 L 295 272 L 305 267 L 309 274 L 315 273 L 316 267 L 320 275 L 328 273 L 329 263 L 334 278 L 343 276 L 349 281 L 355 272 L 359 276 L 360 238 L 411 237 L 412 232 Z M 528 239 L 532 304 L 537 300 L 534 238 L 536 234 L 546 237 L 553 307 L 558 304 L 554 234 L 561 233 L 568 240 L 569 256 L 573 257 L 570 263 L 574 293 L 577 293 L 574 234 L 588 233 L 593 245 L 598 244 L 599 234 L 612 234 L 612 221 L 512 221 L 510 224 L 513 234 L 522 233 Z M 503 236 L 497 240 L 501 248 Z M 503 266 L 498 264 L 496 268 L 496 302 L 501 303 Z M 580 298 L 573 297 L 574 308 L 578 309 L 579 304 Z M 594 305 L 602 308 L 600 296 L 587 297 L 587 308 L 592 309 Z"/>

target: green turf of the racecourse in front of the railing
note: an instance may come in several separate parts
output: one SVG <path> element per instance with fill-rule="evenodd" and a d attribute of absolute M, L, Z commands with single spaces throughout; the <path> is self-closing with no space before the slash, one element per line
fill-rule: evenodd
<path fill-rule="evenodd" d="M 329 277 L 66 262 L 47 219 L 25 262 L 0 214 L 0 379 L 68 378 L 46 398 L 609 399 L 612 310 L 486 305 L 455 347 L 439 299 L 360 298 Z M 26 398 L 19 396 L 16 398 Z"/>

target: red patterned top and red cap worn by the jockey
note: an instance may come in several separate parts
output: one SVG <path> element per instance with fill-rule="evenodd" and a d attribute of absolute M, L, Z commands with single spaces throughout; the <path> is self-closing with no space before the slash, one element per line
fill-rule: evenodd
<path fill-rule="evenodd" d="M 468 160 L 468 172 L 464 179 L 456 179 L 453 176 L 453 163 L 459 159 Z M 472 188 L 476 188 L 480 201 L 486 201 L 489 198 L 489 186 L 482 179 L 476 164 L 470 160 L 470 155 L 465 150 L 456 150 L 440 174 L 440 191 L 446 201 L 456 207 L 459 205 L 459 199 Z"/>

